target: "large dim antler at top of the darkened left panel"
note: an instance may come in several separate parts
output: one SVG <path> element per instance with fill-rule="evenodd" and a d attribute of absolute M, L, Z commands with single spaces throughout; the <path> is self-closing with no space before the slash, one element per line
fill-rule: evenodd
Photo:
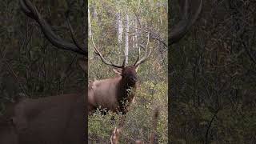
<path fill-rule="evenodd" d="M 70 25 L 70 21 L 66 18 L 66 22 L 70 28 L 71 37 L 73 43 L 66 42 L 62 38 L 60 38 L 54 31 L 51 29 L 50 25 L 42 18 L 41 14 L 39 14 L 37 8 L 30 2 L 30 0 L 20 0 L 20 5 L 22 11 L 30 18 L 33 18 L 36 22 L 38 22 L 39 26 L 42 29 L 45 37 L 57 48 L 62 50 L 70 50 L 78 54 L 82 54 L 87 57 L 88 51 L 86 45 L 78 45 L 78 42 L 75 41 L 74 31 Z M 67 16 L 67 15 L 66 15 Z"/>

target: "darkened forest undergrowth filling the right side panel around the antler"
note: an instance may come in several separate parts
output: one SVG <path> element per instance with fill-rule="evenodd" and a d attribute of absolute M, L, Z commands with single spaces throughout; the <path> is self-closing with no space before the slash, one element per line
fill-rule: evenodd
<path fill-rule="evenodd" d="M 179 15 L 169 6 L 171 28 Z M 190 33 L 169 48 L 172 143 L 256 142 L 255 9 L 252 0 L 204 0 Z"/>

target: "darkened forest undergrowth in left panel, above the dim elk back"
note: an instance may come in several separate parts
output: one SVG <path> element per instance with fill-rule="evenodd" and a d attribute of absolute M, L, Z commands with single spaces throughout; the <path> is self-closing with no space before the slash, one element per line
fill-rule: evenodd
<path fill-rule="evenodd" d="M 84 1 L 33 0 L 43 18 L 60 37 L 72 42 L 65 13 L 78 42 L 86 38 Z M 84 91 L 86 77 L 78 56 L 58 50 L 46 40 L 38 23 L 26 17 L 18 0 L 0 1 L 0 114 L 15 98 L 40 98 Z"/>

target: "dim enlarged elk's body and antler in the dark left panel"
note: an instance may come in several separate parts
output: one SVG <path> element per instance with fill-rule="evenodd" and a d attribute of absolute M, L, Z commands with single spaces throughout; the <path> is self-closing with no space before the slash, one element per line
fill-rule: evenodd
<path fill-rule="evenodd" d="M 79 45 L 75 40 L 68 17 L 66 22 L 73 42 L 67 42 L 55 34 L 30 0 L 19 2 L 24 14 L 38 23 L 42 33 L 52 45 L 87 58 L 87 46 Z M 82 63 L 83 68 L 86 69 L 86 61 Z M 86 100 L 87 93 L 21 99 L 13 108 L 12 122 L 0 130 L 0 142 L 3 144 L 82 144 L 86 142 Z M 7 137 L 17 138 L 17 141 L 7 142 Z"/>

